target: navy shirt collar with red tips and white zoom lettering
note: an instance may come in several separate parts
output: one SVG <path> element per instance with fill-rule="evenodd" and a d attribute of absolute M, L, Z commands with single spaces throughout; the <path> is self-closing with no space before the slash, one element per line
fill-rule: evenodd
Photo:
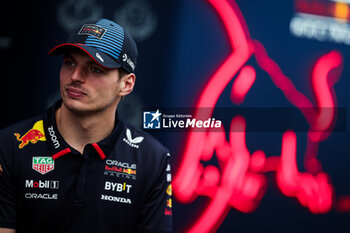
<path fill-rule="evenodd" d="M 47 135 L 47 145 L 53 159 L 58 159 L 59 157 L 69 153 L 79 153 L 68 145 L 57 129 L 55 113 L 56 110 L 61 107 L 61 105 L 62 100 L 57 101 L 51 108 L 49 108 L 49 110 L 47 110 L 44 116 L 44 130 L 45 135 Z M 92 143 L 91 145 L 87 146 L 92 146 L 101 159 L 105 159 L 112 152 L 115 143 L 121 135 L 121 130 L 121 123 L 118 118 L 118 114 L 116 114 L 115 127 L 112 133 L 102 141 Z"/>

